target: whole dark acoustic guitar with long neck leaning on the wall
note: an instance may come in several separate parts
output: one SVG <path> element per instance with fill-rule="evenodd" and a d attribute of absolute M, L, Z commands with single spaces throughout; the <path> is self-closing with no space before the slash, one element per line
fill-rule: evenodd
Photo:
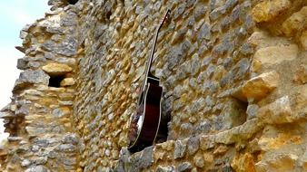
<path fill-rule="evenodd" d="M 160 79 L 153 76 L 150 68 L 153 62 L 153 54 L 159 31 L 169 14 L 170 10 L 167 10 L 161 24 L 156 30 L 152 52 L 145 68 L 145 77 L 141 87 L 141 94 L 138 98 L 137 110 L 131 119 L 128 133 L 128 149 L 132 152 L 152 146 L 159 130 L 163 88 L 160 86 Z"/>

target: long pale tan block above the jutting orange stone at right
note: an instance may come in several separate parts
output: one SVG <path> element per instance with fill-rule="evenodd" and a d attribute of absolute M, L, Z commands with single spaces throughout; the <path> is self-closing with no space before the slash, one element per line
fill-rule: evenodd
<path fill-rule="evenodd" d="M 296 59 L 299 48 L 296 44 L 270 46 L 258 50 L 253 56 L 252 71 L 257 72 L 261 67 L 268 67 L 284 61 Z"/>

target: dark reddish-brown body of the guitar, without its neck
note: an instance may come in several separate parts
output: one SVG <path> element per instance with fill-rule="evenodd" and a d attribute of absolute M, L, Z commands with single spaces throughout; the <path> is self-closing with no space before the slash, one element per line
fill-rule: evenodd
<path fill-rule="evenodd" d="M 161 96 L 163 88 L 159 85 L 148 83 L 142 93 L 144 99 L 137 108 L 137 130 L 138 133 L 134 143 L 129 150 L 135 152 L 153 145 L 157 136 L 161 120 Z M 135 136 L 134 136 L 135 137 Z"/>

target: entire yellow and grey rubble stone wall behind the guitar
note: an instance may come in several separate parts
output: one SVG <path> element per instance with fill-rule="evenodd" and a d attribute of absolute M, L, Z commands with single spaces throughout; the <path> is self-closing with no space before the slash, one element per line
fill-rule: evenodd
<path fill-rule="evenodd" d="M 307 170 L 304 0 L 49 4 L 21 33 L 5 170 Z M 166 9 L 152 72 L 167 140 L 131 155 L 130 117 Z"/>

